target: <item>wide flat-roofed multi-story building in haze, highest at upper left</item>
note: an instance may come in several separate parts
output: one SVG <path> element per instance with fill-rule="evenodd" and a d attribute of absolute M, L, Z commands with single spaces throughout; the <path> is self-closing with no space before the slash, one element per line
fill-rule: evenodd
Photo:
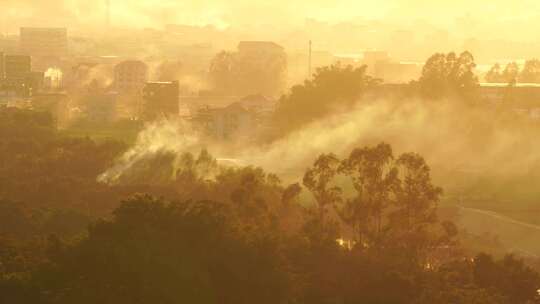
<path fill-rule="evenodd" d="M 20 30 L 20 49 L 24 54 L 32 56 L 66 56 L 67 29 L 23 27 Z"/>

